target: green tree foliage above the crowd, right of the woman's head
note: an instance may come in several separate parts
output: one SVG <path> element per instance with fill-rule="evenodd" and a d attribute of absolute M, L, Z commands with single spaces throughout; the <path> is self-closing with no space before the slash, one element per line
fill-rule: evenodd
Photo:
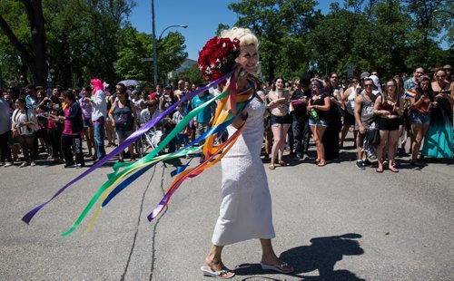
<path fill-rule="evenodd" d="M 235 26 L 259 37 L 262 73 L 292 79 L 315 71 L 383 75 L 452 61 L 452 2 L 447 0 L 344 0 L 327 15 L 311 0 L 242 0 L 229 8 Z M 450 13 L 450 14 L 449 14 Z M 441 16 L 443 15 L 443 16 Z M 449 16 L 450 15 L 450 16 Z M 444 36 L 439 36 L 444 32 Z M 440 48 L 441 41 L 449 50 Z"/>

